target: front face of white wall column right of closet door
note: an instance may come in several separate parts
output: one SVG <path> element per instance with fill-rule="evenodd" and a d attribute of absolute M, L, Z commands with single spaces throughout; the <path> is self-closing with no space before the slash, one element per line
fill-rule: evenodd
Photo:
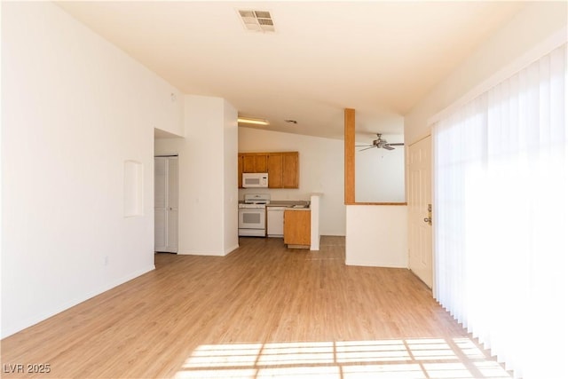
<path fill-rule="evenodd" d="M 185 145 L 180 155 L 180 254 L 222 256 L 224 100 L 185 96 Z"/>

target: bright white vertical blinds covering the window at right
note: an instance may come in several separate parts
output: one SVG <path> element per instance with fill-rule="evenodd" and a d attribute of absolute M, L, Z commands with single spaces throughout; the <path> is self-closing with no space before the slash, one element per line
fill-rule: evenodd
<path fill-rule="evenodd" d="M 433 130 L 434 295 L 525 379 L 568 377 L 566 52 Z"/>

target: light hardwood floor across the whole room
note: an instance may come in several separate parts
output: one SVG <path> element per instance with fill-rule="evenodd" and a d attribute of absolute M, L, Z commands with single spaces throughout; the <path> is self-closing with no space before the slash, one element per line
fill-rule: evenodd
<path fill-rule="evenodd" d="M 344 265 L 342 237 L 240 244 L 157 254 L 154 272 L 5 338 L 2 376 L 509 377 L 412 272 Z"/>

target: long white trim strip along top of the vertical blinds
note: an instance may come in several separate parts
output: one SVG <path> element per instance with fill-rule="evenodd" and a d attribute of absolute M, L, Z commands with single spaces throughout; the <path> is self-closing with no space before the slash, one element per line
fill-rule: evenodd
<path fill-rule="evenodd" d="M 529 66 L 534 61 L 547 55 L 550 51 L 555 50 L 557 47 L 562 46 L 564 43 L 568 42 L 568 27 L 561 28 L 556 33 L 548 36 L 547 39 L 538 43 L 533 49 L 527 51 L 521 57 L 513 60 L 508 66 L 503 67 L 500 71 L 490 76 L 484 82 L 480 83 L 473 90 L 467 92 L 460 99 L 454 101 L 451 105 L 444 108 L 437 114 L 432 115 L 428 119 L 428 125 L 432 126 L 434 123 L 444 119 L 448 114 L 452 114 L 454 110 L 464 104 L 469 103 L 473 99 L 476 99 L 481 94 L 486 91 L 491 90 L 495 85 L 503 82 L 512 75 L 517 74 L 523 68 Z"/>

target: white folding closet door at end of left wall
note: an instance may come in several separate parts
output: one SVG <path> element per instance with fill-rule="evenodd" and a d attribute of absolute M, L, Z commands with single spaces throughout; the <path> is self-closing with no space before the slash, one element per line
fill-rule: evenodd
<path fill-rule="evenodd" d="M 177 156 L 154 158 L 154 251 L 177 253 Z"/>

